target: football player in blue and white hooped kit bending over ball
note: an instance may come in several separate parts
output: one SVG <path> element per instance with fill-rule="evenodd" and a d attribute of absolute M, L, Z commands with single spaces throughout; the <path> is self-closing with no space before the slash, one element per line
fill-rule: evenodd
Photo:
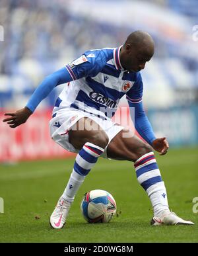
<path fill-rule="evenodd" d="M 139 71 L 153 54 L 152 37 L 147 32 L 132 32 L 123 46 L 90 50 L 52 73 L 37 87 L 26 107 L 5 114 L 10 117 L 3 121 L 15 128 L 26 122 L 54 87 L 69 83 L 55 102 L 49 127 L 51 138 L 63 148 L 77 152 L 77 157 L 65 191 L 51 214 L 53 228 L 63 228 L 75 194 L 100 156 L 134 162 L 137 180 L 152 204 L 152 225 L 193 225 L 169 210 L 166 188 L 153 153 L 154 149 L 164 155 L 168 150 L 166 138 L 154 136 L 143 110 Z M 124 95 L 135 112 L 135 128 L 147 143 L 112 122 Z M 126 132 L 128 136 L 124 136 Z"/>

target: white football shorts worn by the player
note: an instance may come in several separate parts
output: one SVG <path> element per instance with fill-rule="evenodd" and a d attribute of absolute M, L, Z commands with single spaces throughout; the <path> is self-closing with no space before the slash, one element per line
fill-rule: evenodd
<path fill-rule="evenodd" d="M 78 152 L 78 149 L 75 149 L 71 143 L 69 143 L 69 130 L 72 126 L 74 126 L 77 121 L 83 117 L 88 117 L 94 122 L 96 122 L 100 127 L 106 132 L 110 144 L 111 140 L 124 129 L 123 126 L 120 126 L 119 124 L 116 124 L 115 122 L 112 122 L 111 119 L 104 120 L 104 118 L 99 118 L 97 116 L 94 116 L 94 114 L 90 114 L 88 112 L 83 112 L 81 110 L 77 110 L 75 108 L 65 108 L 65 110 L 59 110 L 56 112 L 56 116 L 51 118 L 49 121 L 49 130 L 50 130 L 50 136 L 51 138 L 60 146 L 65 148 L 68 151 L 71 152 Z M 106 146 L 104 153 L 102 153 L 102 157 L 108 158 L 106 149 L 108 148 L 108 145 Z"/>

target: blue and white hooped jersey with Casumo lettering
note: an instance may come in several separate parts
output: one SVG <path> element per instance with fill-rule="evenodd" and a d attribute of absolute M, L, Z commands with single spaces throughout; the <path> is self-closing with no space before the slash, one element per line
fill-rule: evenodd
<path fill-rule="evenodd" d="M 141 74 L 123 69 L 119 60 L 121 47 L 90 50 L 67 64 L 65 69 L 72 81 L 59 95 L 53 113 L 63 108 L 77 108 L 112 118 L 124 95 L 131 103 L 141 102 Z"/>

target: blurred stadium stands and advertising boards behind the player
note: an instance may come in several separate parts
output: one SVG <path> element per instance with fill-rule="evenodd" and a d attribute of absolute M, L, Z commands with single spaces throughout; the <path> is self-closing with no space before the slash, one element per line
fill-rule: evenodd
<path fill-rule="evenodd" d="M 158 136 L 172 147 L 198 144 L 197 0 L 1 0 L 0 118 L 26 105 L 53 71 L 92 48 L 117 47 L 133 30 L 156 42 L 141 73 L 144 104 Z M 30 120 L 0 125 L 0 161 L 70 155 L 49 138 L 54 89 Z M 125 105 L 125 99 L 121 105 Z"/>

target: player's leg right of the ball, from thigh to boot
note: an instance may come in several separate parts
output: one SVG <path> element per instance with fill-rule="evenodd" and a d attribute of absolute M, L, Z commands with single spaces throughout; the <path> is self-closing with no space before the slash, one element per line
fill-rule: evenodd
<path fill-rule="evenodd" d="M 151 224 L 154 226 L 161 224 L 193 224 L 170 212 L 166 187 L 164 181 L 162 181 L 152 148 L 137 136 L 133 136 L 132 132 L 131 134 L 127 132 L 128 135 L 131 135 L 129 138 L 124 138 L 124 134 L 126 134 L 126 130 L 121 130 L 114 137 L 108 145 L 107 154 L 112 159 L 134 162 L 137 180 L 147 192 L 154 211 Z"/>

